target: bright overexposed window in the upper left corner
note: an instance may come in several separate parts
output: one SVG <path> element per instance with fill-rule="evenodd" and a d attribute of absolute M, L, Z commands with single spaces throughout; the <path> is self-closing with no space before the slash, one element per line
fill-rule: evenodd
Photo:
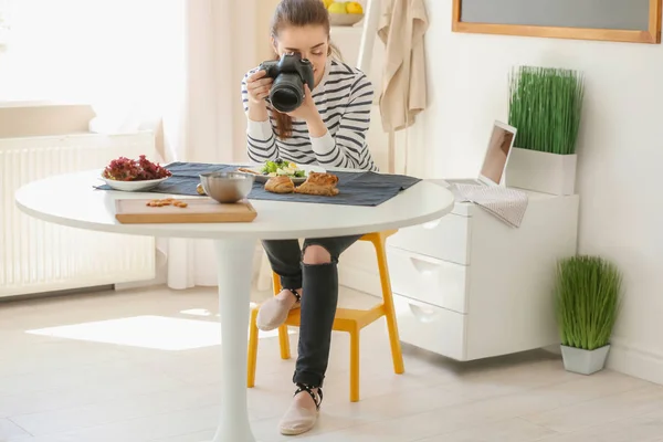
<path fill-rule="evenodd" d="M 0 0 L 0 102 L 156 94 L 181 62 L 183 1 Z"/>

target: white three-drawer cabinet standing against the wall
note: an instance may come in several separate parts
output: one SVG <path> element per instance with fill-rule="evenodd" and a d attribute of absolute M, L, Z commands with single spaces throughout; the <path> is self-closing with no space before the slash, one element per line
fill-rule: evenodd
<path fill-rule="evenodd" d="M 456 202 L 388 242 L 401 340 L 457 360 L 557 344 L 556 262 L 577 249 L 578 196 L 528 192 L 520 228 Z"/>

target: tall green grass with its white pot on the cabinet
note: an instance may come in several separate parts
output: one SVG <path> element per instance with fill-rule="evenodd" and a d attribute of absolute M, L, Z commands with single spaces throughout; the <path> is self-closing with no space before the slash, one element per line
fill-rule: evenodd
<path fill-rule="evenodd" d="M 508 123 L 517 128 L 506 185 L 572 194 L 585 80 L 577 71 L 518 66 L 509 75 Z"/>

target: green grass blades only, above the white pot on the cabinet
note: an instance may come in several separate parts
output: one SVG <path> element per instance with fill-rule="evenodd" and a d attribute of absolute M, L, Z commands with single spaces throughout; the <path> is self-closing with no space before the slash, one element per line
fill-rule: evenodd
<path fill-rule="evenodd" d="M 585 78 L 577 71 L 518 66 L 509 75 L 508 123 L 515 146 L 558 155 L 576 152 Z"/>

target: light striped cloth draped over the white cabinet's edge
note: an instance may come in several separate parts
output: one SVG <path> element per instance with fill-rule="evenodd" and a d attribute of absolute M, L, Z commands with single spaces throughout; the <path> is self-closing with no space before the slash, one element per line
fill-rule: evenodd
<path fill-rule="evenodd" d="M 527 210 L 527 193 L 504 187 L 455 183 L 457 200 L 471 201 L 513 228 L 519 228 Z"/>

